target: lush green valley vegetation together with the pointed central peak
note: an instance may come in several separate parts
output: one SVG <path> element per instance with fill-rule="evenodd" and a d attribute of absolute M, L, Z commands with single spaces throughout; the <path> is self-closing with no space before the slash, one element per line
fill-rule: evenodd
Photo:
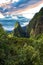
<path fill-rule="evenodd" d="M 43 32 L 25 38 L 18 24 L 10 34 L 0 25 L 0 65 L 43 65 Z"/>

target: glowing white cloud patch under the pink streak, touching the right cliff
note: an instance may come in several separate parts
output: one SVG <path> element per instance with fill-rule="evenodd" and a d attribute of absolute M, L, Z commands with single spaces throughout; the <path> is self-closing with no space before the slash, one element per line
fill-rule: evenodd
<path fill-rule="evenodd" d="M 34 14 L 39 12 L 39 10 L 41 9 L 41 7 L 43 7 L 43 4 L 40 4 L 39 6 L 37 7 L 34 7 L 30 10 L 25 10 L 24 12 L 22 12 L 21 14 L 26 17 L 26 18 L 29 18 L 29 19 L 32 19 Z"/>

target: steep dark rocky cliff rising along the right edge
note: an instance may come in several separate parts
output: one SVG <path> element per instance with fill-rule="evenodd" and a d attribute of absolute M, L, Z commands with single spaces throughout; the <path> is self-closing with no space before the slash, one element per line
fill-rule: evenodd
<path fill-rule="evenodd" d="M 34 36 L 43 33 L 43 8 L 30 21 L 27 32 Z"/>

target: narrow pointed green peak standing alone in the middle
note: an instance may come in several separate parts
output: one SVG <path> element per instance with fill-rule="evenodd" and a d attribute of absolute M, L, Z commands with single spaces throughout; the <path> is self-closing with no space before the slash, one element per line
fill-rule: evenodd
<path fill-rule="evenodd" d="M 14 36 L 17 36 L 17 37 L 25 37 L 26 36 L 26 33 L 20 26 L 19 22 L 16 22 L 16 24 L 15 24 Z"/>

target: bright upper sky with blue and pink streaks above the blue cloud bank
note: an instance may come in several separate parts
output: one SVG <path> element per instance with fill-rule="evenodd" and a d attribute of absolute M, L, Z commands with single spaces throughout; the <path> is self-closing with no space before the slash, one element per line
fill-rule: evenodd
<path fill-rule="evenodd" d="M 43 0 L 1 0 L 0 18 L 21 14 L 31 19 L 41 7 L 43 7 Z"/>

